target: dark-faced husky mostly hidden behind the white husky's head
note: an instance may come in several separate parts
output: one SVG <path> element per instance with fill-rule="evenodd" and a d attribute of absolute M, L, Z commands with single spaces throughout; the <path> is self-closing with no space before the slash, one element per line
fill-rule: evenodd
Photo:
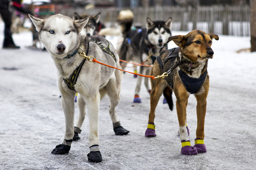
<path fill-rule="evenodd" d="M 101 30 L 101 28 L 105 28 L 105 26 L 100 22 L 101 13 L 90 16 L 86 14 L 79 15 L 75 12 L 73 15 L 74 20 L 85 19 L 88 17 L 88 23 L 85 25 L 84 29 L 82 29 L 81 33 L 86 36 L 98 35 L 98 32 Z"/>

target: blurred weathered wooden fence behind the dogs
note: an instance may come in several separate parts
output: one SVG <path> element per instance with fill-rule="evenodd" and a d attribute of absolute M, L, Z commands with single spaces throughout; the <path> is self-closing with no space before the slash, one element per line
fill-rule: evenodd
<path fill-rule="evenodd" d="M 101 12 L 101 21 L 108 27 L 114 27 L 121 8 L 76 9 L 79 14 L 95 15 Z M 172 18 L 172 30 L 192 31 L 201 29 L 219 35 L 250 36 L 250 6 L 199 6 L 197 8 L 165 6 L 150 8 L 131 8 L 134 12 L 134 24 L 146 24 L 146 18 L 167 20 Z M 61 13 L 72 16 L 74 10 Z"/>

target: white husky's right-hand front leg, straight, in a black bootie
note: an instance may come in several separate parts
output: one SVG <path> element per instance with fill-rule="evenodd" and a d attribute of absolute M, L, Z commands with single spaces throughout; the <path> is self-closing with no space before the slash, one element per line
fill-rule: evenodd
<path fill-rule="evenodd" d="M 98 112 L 100 109 L 100 92 L 95 96 L 88 97 L 86 100 L 88 104 L 89 115 L 89 145 L 90 152 L 87 155 L 89 162 L 101 162 L 102 156 L 98 141 Z"/>

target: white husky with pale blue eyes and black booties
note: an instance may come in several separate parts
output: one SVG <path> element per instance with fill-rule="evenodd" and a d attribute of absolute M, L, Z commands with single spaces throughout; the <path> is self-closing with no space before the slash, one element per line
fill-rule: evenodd
<path fill-rule="evenodd" d="M 68 154 L 74 130 L 80 133 L 85 118 L 85 105 L 89 114 L 89 162 L 101 162 L 102 156 L 98 140 L 98 112 L 100 99 L 108 94 L 109 113 L 116 135 L 129 133 L 124 129 L 115 112 L 121 90 L 121 71 L 98 63 L 89 62 L 87 56 L 94 56 L 107 65 L 120 67 L 119 57 L 113 45 L 102 36 L 81 35 L 89 18 L 72 20 L 61 14 L 52 15 L 43 20 L 29 15 L 39 32 L 39 40 L 51 54 L 57 67 L 57 84 L 61 92 L 61 104 L 65 115 L 65 135 L 61 145 L 57 145 L 53 154 Z M 102 50 L 102 46 L 108 51 Z M 87 57 L 87 59 L 86 59 Z M 74 97 L 78 93 L 79 118 L 74 128 Z"/>

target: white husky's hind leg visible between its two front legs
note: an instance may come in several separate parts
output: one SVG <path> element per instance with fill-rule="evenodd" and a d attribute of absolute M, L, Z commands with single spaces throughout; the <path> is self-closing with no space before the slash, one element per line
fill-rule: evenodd
<path fill-rule="evenodd" d="M 81 133 L 81 126 L 85 118 L 85 101 L 82 99 L 81 95 L 77 95 L 77 104 L 79 105 L 79 118 L 74 126 L 74 136 L 73 141 L 78 141 L 80 139 L 79 134 Z"/>

